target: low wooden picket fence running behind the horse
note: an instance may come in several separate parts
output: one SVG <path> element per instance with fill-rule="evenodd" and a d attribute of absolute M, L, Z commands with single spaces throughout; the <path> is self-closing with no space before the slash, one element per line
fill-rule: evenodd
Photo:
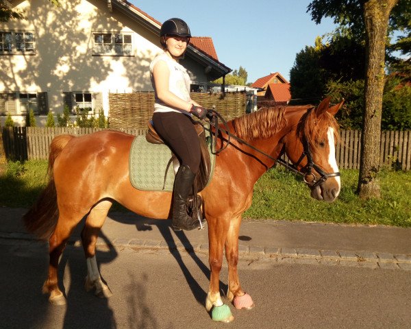
<path fill-rule="evenodd" d="M 5 156 L 10 160 L 42 160 L 49 156 L 49 145 L 54 136 L 72 134 L 81 136 L 101 129 L 94 128 L 45 128 L 13 127 L 2 130 L 1 139 Z M 132 135 L 145 135 L 143 128 L 121 129 Z M 338 167 L 359 169 L 361 132 L 340 130 L 340 141 L 336 147 Z M 0 147 L 1 151 L 1 147 Z M 394 169 L 411 169 L 411 131 L 382 132 L 380 143 L 380 164 Z"/>

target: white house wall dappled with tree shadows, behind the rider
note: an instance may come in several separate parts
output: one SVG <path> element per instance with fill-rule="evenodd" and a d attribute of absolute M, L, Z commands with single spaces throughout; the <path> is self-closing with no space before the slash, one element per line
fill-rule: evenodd
<path fill-rule="evenodd" d="M 138 23 L 110 12 L 106 1 L 21 1 L 27 20 L 0 23 L 1 30 L 34 32 L 34 55 L 0 55 L 0 92 L 47 91 L 49 110 L 63 110 L 63 92 L 103 93 L 108 115 L 108 93 L 152 90 L 149 63 L 161 51 L 158 37 Z M 132 57 L 92 56 L 93 32 L 133 32 Z M 2 124 L 5 117 L 1 117 Z M 13 117 L 23 125 L 24 117 Z M 38 118 L 45 124 L 45 116 Z"/>

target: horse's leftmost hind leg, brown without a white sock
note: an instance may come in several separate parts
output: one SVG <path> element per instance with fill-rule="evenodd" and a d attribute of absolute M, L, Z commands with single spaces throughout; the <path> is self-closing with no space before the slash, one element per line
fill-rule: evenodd
<path fill-rule="evenodd" d="M 58 222 L 55 227 L 53 234 L 51 234 L 49 239 L 49 273 L 45 284 L 43 284 L 43 293 L 50 293 L 49 302 L 55 305 L 66 304 L 66 299 L 58 288 L 58 263 L 60 256 L 66 247 L 67 240 L 69 239 L 71 233 L 73 232 L 75 226 L 81 221 L 82 216 L 77 217 L 64 215 L 60 211 L 58 217 Z"/>

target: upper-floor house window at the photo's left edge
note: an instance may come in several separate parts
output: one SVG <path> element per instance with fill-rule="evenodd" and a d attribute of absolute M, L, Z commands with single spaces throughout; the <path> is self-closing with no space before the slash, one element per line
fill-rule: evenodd
<path fill-rule="evenodd" d="M 33 32 L 0 31 L 0 53 L 34 53 Z"/>

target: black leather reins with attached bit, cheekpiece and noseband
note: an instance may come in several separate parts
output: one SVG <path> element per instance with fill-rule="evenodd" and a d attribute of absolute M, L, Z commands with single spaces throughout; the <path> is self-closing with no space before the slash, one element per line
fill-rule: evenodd
<path fill-rule="evenodd" d="M 266 156 L 267 158 L 273 160 L 275 163 L 281 164 L 282 166 L 286 167 L 286 169 L 292 171 L 293 173 L 296 173 L 297 175 L 301 175 L 303 177 L 304 182 L 306 182 L 306 184 L 308 184 L 308 186 L 310 186 L 311 189 L 315 188 L 316 186 L 318 186 L 319 184 L 321 184 L 322 182 L 325 182 L 327 180 L 327 178 L 331 178 L 331 177 L 337 177 L 340 176 L 340 172 L 337 171 L 336 173 L 325 173 L 325 171 L 323 171 L 323 169 L 321 169 L 312 159 L 312 153 L 311 153 L 311 149 L 310 149 L 310 144 L 307 141 L 306 136 L 303 136 L 303 153 L 301 154 L 301 156 L 299 157 L 299 160 L 297 161 L 296 164 L 289 164 L 288 162 L 282 160 L 282 159 L 276 159 L 273 158 L 272 156 L 270 156 L 269 154 L 266 154 L 265 152 L 261 151 L 260 149 L 258 149 L 257 147 L 254 147 L 253 145 L 250 145 L 249 143 L 247 143 L 246 141 L 242 140 L 241 138 L 233 135 L 230 131 L 229 131 L 229 127 L 227 125 L 227 121 L 225 121 L 223 119 L 223 117 L 221 117 L 221 114 L 219 114 L 219 112 L 216 112 L 215 110 L 208 110 L 207 111 L 207 118 L 210 120 L 210 125 L 212 125 L 214 127 L 214 143 L 213 141 L 211 141 L 211 145 L 212 148 L 214 147 L 214 151 L 212 150 L 212 154 L 219 154 L 221 151 L 223 151 L 224 149 L 227 148 L 227 146 L 230 143 L 230 138 L 234 138 L 236 141 L 240 142 L 241 144 L 247 145 L 247 147 L 250 147 L 251 149 L 258 151 L 258 153 L 262 154 L 263 156 Z M 219 119 L 221 121 L 223 121 L 223 125 L 225 126 L 225 129 L 222 129 L 219 127 Z M 204 127 L 204 126 L 203 126 Z M 207 129 L 206 127 L 204 127 L 205 129 Z M 216 140 L 217 140 L 217 136 L 219 135 L 219 130 L 225 132 L 225 134 L 227 134 L 228 138 L 227 138 L 227 144 L 225 146 L 223 146 L 223 142 L 221 142 L 221 147 L 218 150 L 215 150 L 216 147 Z M 212 138 L 213 133 L 211 131 L 210 128 L 210 136 Z M 213 146 L 214 145 L 214 146 Z M 283 152 L 282 152 L 283 153 Z M 301 161 L 307 158 L 307 164 L 305 167 L 303 167 L 303 169 L 306 169 L 306 173 L 303 173 L 302 171 L 299 171 L 298 165 L 301 163 Z M 316 180 L 316 177 L 314 175 L 314 173 L 312 173 L 312 169 L 315 169 L 315 171 L 317 173 L 319 173 L 319 175 L 321 176 L 318 180 Z M 312 180 L 308 181 L 306 178 L 308 176 L 312 176 Z"/>

